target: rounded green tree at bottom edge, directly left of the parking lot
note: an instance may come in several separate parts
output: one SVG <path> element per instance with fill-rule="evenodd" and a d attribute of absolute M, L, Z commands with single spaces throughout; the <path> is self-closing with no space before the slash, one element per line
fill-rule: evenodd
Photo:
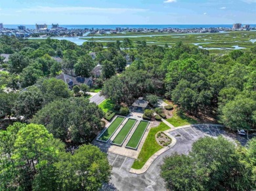
<path fill-rule="evenodd" d="M 84 145 L 55 164 L 60 190 L 98 190 L 110 180 L 111 166 L 98 147 Z M 83 173 L 77 173 L 83 172 Z"/>

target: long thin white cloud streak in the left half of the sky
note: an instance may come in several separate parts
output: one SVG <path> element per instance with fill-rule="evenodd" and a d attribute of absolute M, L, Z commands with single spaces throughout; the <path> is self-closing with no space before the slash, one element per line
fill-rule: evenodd
<path fill-rule="evenodd" d="M 120 12 L 144 12 L 148 9 L 129 9 L 129 8 L 100 8 L 100 7 L 30 7 L 24 9 L 26 11 L 33 12 L 108 12 L 108 13 L 120 13 Z"/>

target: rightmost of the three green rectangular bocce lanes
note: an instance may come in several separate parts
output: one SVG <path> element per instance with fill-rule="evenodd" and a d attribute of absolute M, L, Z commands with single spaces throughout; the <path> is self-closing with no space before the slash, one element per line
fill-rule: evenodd
<path fill-rule="evenodd" d="M 147 126 L 148 126 L 148 122 L 141 121 L 126 146 L 131 148 L 136 148 Z"/>

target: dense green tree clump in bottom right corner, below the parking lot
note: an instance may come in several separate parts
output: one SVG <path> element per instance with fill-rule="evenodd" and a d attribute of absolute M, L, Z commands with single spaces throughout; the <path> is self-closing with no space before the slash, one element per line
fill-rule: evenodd
<path fill-rule="evenodd" d="M 251 190 L 255 189 L 253 164 L 248 150 L 224 137 L 205 137 L 192 145 L 188 156 L 175 154 L 164 159 L 161 177 L 170 190 Z"/>

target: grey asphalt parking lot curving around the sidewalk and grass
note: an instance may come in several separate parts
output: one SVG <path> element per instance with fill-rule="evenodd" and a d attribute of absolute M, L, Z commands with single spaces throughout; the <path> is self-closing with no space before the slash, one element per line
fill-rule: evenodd
<path fill-rule="evenodd" d="M 200 137 L 211 136 L 217 137 L 223 135 L 228 139 L 236 139 L 244 145 L 247 140 L 239 135 L 226 133 L 224 128 L 214 126 L 195 126 L 183 129 L 177 129 L 170 132 L 177 139 L 174 147 L 167 150 L 150 165 L 148 171 L 141 175 L 129 173 L 134 159 L 108 152 L 108 160 L 112 165 L 111 188 L 104 190 L 165 190 L 163 179 L 160 177 L 160 165 L 163 164 L 165 156 L 177 152 L 179 154 L 188 154 L 192 148 L 192 144 L 200 139 Z M 113 186 L 114 184 L 114 186 Z"/>

